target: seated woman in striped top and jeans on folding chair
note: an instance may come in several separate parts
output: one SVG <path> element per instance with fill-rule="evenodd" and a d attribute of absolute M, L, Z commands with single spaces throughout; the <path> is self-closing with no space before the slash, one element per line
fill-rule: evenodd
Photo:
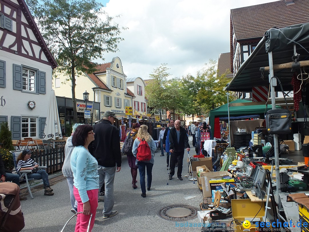
<path fill-rule="evenodd" d="M 23 152 L 19 155 L 17 158 L 17 167 L 16 171 L 22 171 L 22 170 L 34 170 L 39 166 L 34 160 L 31 159 L 31 153 L 29 149 L 23 150 Z M 36 171 L 36 173 L 29 172 L 27 173 L 28 178 L 35 179 L 35 180 L 43 180 L 44 184 L 44 195 L 52 196 L 54 195 L 53 189 L 49 187 L 49 181 L 48 181 L 48 174 L 44 169 Z"/>

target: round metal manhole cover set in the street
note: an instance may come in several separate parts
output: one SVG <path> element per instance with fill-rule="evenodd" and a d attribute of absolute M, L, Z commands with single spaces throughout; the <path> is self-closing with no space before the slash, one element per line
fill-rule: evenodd
<path fill-rule="evenodd" d="M 167 221 L 188 221 L 197 217 L 197 209 L 185 204 L 170 205 L 160 209 L 158 216 Z"/>

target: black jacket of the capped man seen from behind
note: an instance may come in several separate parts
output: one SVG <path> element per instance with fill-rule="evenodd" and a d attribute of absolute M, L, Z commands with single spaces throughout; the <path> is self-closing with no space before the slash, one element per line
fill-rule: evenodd
<path fill-rule="evenodd" d="M 89 144 L 89 152 L 103 167 L 121 167 L 119 130 L 106 119 L 93 126 L 95 140 Z"/>

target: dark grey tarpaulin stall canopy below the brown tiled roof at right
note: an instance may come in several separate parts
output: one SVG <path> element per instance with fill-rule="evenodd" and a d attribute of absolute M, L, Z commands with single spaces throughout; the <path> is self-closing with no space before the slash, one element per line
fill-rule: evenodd
<path fill-rule="evenodd" d="M 297 24 L 286 28 L 272 28 L 265 32 L 250 56 L 239 67 L 234 78 L 226 87 L 226 90 L 235 92 L 251 92 L 252 87 L 269 86 L 268 71 L 264 71 L 264 79 L 260 67 L 268 67 L 268 52 L 273 53 L 273 65 L 292 62 L 296 52 L 300 54 L 298 61 L 309 60 L 309 23 Z M 275 68 L 275 67 L 274 67 Z M 279 77 L 284 91 L 293 89 L 290 84 L 294 71 L 291 68 L 274 70 L 274 76 Z M 299 74 L 299 69 L 298 69 Z M 280 87 L 275 89 L 281 91 Z"/>

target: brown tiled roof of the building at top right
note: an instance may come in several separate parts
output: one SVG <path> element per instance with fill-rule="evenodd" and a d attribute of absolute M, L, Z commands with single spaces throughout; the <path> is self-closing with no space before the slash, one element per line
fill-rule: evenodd
<path fill-rule="evenodd" d="M 308 23 L 309 1 L 294 0 L 294 3 L 286 4 L 284 0 L 280 0 L 231 9 L 231 20 L 237 41 L 261 38 L 273 27 Z"/>

